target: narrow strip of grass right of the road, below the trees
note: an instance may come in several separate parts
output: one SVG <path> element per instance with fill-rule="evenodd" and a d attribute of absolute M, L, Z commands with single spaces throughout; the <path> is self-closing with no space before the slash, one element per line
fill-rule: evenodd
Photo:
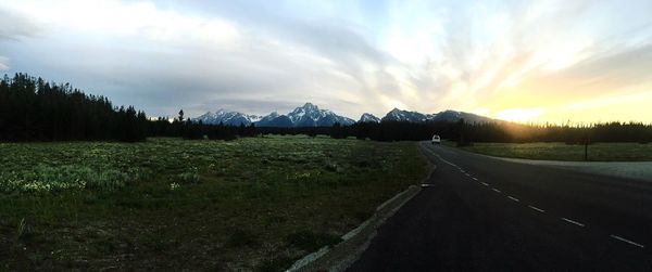
<path fill-rule="evenodd" d="M 446 142 L 454 146 L 454 142 Z M 565 143 L 474 143 L 465 151 L 498 157 L 584 160 L 585 146 Z M 594 143 L 589 145 L 589 160 L 593 161 L 643 161 L 652 160 L 652 144 Z"/>

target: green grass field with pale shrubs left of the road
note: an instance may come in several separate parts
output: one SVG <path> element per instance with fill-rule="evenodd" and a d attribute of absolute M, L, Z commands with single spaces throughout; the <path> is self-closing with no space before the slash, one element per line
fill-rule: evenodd
<path fill-rule="evenodd" d="M 279 271 L 425 176 L 414 143 L 1 143 L 0 270 Z"/>

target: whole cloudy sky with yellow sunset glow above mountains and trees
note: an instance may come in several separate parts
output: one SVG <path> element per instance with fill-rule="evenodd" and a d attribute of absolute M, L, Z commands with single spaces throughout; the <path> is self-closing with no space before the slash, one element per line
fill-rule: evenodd
<path fill-rule="evenodd" d="M 150 116 L 455 109 L 652 122 L 652 1 L 0 2 L 0 74 Z"/>

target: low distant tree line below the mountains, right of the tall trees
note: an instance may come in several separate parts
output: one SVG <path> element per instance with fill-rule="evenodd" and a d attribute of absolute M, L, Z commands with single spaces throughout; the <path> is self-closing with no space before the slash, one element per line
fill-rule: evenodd
<path fill-rule="evenodd" d="M 181 127 L 185 139 L 234 139 L 235 137 L 252 137 L 261 134 L 318 134 L 335 139 L 356 138 L 374 141 L 424 141 L 440 135 L 467 145 L 473 142 L 564 142 L 567 144 L 585 144 L 593 142 L 638 142 L 652 141 L 652 125 L 642 122 L 606 122 L 591 126 L 559 126 L 559 125 L 523 125 L 506 121 L 468 124 L 461 119 L 456 122 L 356 122 L 351 126 L 316 128 L 259 128 L 249 126 L 230 127 L 230 134 L 223 132 L 223 138 L 215 137 L 214 131 L 224 131 L 229 126 L 214 126 L 188 122 Z M 213 134 L 212 134 L 213 133 Z M 220 135 L 220 134 L 217 134 Z M 227 138 L 224 138 L 227 135 Z"/>

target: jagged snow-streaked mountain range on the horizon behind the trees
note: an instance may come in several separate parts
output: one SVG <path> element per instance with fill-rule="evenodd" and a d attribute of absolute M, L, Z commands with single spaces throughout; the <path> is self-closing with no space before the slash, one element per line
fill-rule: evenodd
<path fill-rule="evenodd" d="M 380 122 L 380 121 L 409 121 L 409 122 L 426 122 L 426 121 L 457 121 L 464 118 L 468 122 L 493 122 L 497 119 L 491 119 L 485 116 L 444 111 L 437 114 L 422 114 L 418 112 L 403 111 L 393 108 L 385 117 L 378 118 L 372 114 L 363 114 L 358 122 Z M 215 113 L 208 112 L 192 121 L 201 121 L 210 125 L 230 125 L 230 126 L 249 126 L 254 124 L 256 127 L 330 127 L 336 122 L 343 126 L 353 125 L 355 120 L 335 114 L 328 109 L 322 109 L 312 103 L 305 103 L 303 106 L 294 108 L 294 111 L 281 115 L 277 112 L 266 116 L 248 115 L 238 112 L 227 112 L 220 109 Z"/>

